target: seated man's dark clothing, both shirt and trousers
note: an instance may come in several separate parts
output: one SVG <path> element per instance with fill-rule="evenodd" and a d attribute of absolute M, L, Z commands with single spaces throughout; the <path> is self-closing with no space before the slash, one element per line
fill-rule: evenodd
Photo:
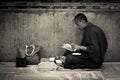
<path fill-rule="evenodd" d="M 86 46 L 87 50 L 77 50 L 76 52 L 80 52 L 81 56 L 73 56 L 70 51 L 65 52 L 66 68 L 99 68 L 101 67 L 105 52 L 107 50 L 108 44 L 107 39 L 99 27 L 93 25 L 92 23 L 88 23 L 88 25 L 84 28 L 83 38 L 81 41 L 82 46 Z M 79 64 L 76 67 L 75 64 Z M 73 67 L 74 65 L 74 67 Z"/>

